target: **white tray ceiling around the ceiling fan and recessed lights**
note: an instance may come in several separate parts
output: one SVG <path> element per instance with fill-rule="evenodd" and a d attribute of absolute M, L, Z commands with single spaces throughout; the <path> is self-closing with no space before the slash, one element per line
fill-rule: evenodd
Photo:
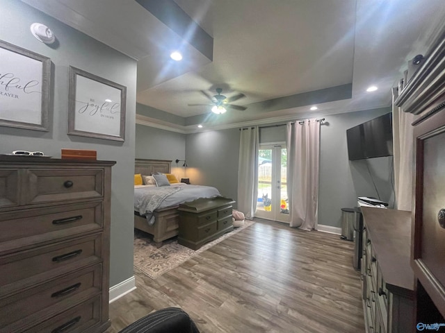
<path fill-rule="evenodd" d="M 388 106 L 407 60 L 445 22 L 444 0 L 175 0 L 213 37 L 210 60 L 184 40 L 193 31 L 175 33 L 134 0 L 22 1 L 138 60 L 138 103 L 191 117 L 210 111 L 187 106 L 208 102 L 200 90 L 245 94 L 234 104 L 247 110 L 218 116 L 226 124 Z M 316 95 L 303 93 L 347 84 L 352 98 L 309 111 Z"/>

